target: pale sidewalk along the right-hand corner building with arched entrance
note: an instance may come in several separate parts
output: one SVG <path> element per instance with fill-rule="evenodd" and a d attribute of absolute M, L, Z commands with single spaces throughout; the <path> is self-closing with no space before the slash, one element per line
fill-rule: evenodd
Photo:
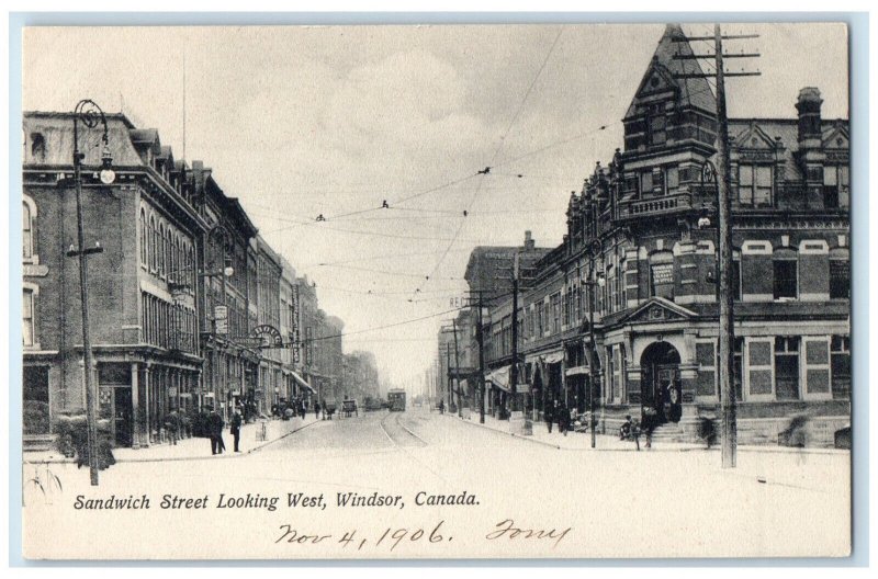
<path fill-rule="evenodd" d="M 485 423 L 479 422 L 479 412 L 472 412 L 469 420 L 466 418 L 458 418 L 457 415 L 448 415 L 457 420 L 472 424 L 474 427 L 494 430 L 498 433 L 517 439 L 526 440 L 536 444 L 551 446 L 560 451 L 632 451 L 637 452 L 637 445 L 633 441 L 619 440 L 617 435 L 600 434 L 596 436 L 595 449 L 592 449 L 592 436 L 588 432 L 567 432 L 567 435 L 558 431 L 558 424 L 549 432 L 545 422 L 534 421 L 533 434 L 530 436 L 521 434 L 513 434 L 509 432 L 508 420 L 497 420 L 496 418 L 485 415 Z M 646 438 L 640 438 L 640 450 L 642 452 L 683 452 L 683 451 L 707 451 L 708 449 L 701 443 L 682 443 L 682 442 L 664 442 L 653 441 L 652 447 L 646 449 Z M 849 451 L 835 450 L 835 449 L 795 449 L 789 446 L 758 446 L 758 445 L 739 445 L 739 451 L 743 452 L 759 452 L 759 453 L 784 453 L 784 454 L 848 454 Z M 711 446 L 710 451 L 719 451 L 719 445 Z"/>

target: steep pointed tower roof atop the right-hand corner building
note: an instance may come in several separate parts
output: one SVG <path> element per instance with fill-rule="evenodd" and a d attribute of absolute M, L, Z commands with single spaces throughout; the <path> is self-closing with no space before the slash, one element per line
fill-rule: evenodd
<path fill-rule="evenodd" d="M 638 114 L 637 105 L 641 99 L 663 90 L 677 92 L 677 104 L 680 107 L 694 106 L 711 115 L 717 114 L 717 101 L 713 89 L 705 78 L 676 78 L 677 75 L 701 75 L 703 70 L 697 58 L 680 59 L 677 55 L 691 56 L 691 45 L 679 24 L 668 24 L 652 57 L 643 80 L 631 101 L 624 117 Z"/>

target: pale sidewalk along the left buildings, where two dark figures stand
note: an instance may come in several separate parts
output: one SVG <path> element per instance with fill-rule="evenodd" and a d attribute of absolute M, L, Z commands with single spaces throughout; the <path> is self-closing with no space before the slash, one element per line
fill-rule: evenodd
<path fill-rule="evenodd" d="M 113 449 L 113 456 L 119 463 L 148 463 L 158 461 L 191 461 L 193 458 L 236 458 L 246 456 L 259 449 L 277 442 L 290 434 L 318 422 L 314 415 L 305 419 L 293 418 L 290 420 L 264 420 L 241 425 L 239 453 L 234 452 L 234 439 L 228 428 L 223 431 L 223 442 L 226 452 L 222 455 L 211 454 L 211 441 L 204 438 L 190 438 L 177 441 L 177 444 L 161 443 L 140 449 Z M 262 439 L 262 424 L 266 425 L 266 436 Z M 68 463 L 75 462 L 57 451 L 27 452 L 24 459 L 30 463 Z"/>

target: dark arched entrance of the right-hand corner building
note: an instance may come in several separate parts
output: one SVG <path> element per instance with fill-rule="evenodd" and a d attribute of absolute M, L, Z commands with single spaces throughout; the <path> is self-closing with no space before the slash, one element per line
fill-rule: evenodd
<path fill-rule="evenodd" d="M 644 415 L 662 422 L 678 422 L 683 398 L 679 381 L 679 352 L 668 342 L 650 344 L 640 356 L 640 383 Z"/>

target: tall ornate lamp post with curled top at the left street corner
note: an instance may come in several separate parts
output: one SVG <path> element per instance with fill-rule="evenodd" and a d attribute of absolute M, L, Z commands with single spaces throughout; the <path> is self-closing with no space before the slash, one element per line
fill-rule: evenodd
<path fill-rule="evenodd" d="M 88 421 L 88 453 L 89 453 L 89 474 L 91 485 L 98 486 L 98 396 L 94 391 L 92 379 L 92 355 L 91 336 L 89 332 L 89 277 L 88 277 L 88 257 L 92 253 L 100 253 L 103 248 L 95 243 L 93 248 L 86 249 L 86 226 L 82 218 L 82 161 L 86 158 L 79 151 L 79 123 L 86 128 L 94 128 L 98 123 L 103 126 L 103 150 L 101 151 L 100 179 L 104 185 L 112 184 L 116 175 L 111 169 L 112 156 L 110 155 L 110 139 L 108 138 L 106 117 L 98 104 L 90 100 L 79 101 L 74 109 L 74 183 L 76 184 L 76 218 L 77 218 L 77 242 L 78 248 L 71 247 L 67 257 L 79 259 L 79 296 L 82 303 L 82 359 L 85 363 L 86 381 L 86 419 Z"/>

